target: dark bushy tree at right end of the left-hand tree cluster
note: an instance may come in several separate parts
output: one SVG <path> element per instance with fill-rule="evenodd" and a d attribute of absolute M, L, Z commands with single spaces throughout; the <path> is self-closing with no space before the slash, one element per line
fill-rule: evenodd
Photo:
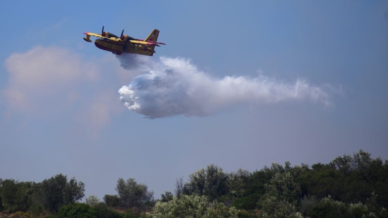
<path fill-rule="evenodd" d="M 73 177 L 67 181 L 67 176 L 58 174 L 43 180 L 40 184 L 41 202 L 50 212 L 69 203 L 77 202 L 84 196 L 85 184 L 77 182 Z"/>

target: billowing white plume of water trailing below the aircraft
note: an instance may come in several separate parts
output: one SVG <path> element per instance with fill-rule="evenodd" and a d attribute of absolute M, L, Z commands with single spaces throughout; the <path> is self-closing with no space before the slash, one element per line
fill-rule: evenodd
<path fill-rule="evenodd" d="M 122 55 L 119 58 L 121 65 L 129 70 L 147 72 L 118 91 L 120 100 L 129 110 L 147 118 L 179 114 L 208 116 L 221 109 L 250 102 L 310 101 L 325 106 L 331 104 L 323 88 L 311 86 L 303 79 L 285 83 L 262 75 L 256 78 L 212 78 L 188 59 L 162 57 L 152 62 L 131 57 Z"/>

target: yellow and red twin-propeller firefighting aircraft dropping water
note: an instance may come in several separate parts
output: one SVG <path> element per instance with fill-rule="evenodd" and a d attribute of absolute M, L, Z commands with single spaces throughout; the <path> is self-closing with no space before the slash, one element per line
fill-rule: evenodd
<path fill-rule="evenodd" d="M 86 35 L 83 39 L 86 42 L 92 42 L 90 36 L 96 36 L 97 39 L 94 41 L 96 47 L 112 51 L 113 54 L 120 55 L 122 52 L 135 53 L 141 55 L 152 56 L 155 53 L 155 46 L 166 45 L 161 42 L 157 42 L 159 31 L 153 30 L 146 39 L 135 39 L 128 35 L 124 35 L 124 30 L 121 32 L 120 37 L 110 33 L 104 32 L 104 26 L 102 26 L 101 34 L 93 32 L 84 32 Z"/>

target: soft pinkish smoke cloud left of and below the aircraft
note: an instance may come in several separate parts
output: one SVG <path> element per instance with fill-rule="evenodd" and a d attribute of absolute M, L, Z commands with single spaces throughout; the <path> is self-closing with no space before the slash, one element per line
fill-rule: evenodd
<path fill-rule="evenodd" d="M 97 67 L 60 47 L 33 47 L 5 61 L 9 77 L 2 90 L 12 110 L 35 114 L 44 106 L 74 100 L 83 81 L 97 78 Z M 46 112 L 44 112 L 46 113 Z"/>

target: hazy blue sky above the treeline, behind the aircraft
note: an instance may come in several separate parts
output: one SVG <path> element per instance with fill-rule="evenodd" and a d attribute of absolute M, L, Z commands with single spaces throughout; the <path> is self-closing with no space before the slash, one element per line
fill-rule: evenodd
<path fill-rule="evenodd" d="M 359 149 L 388 158 L 387 1 L 0 1 L 0 19 L 3 179 L 63 173 L 102 199 L 135 178 L 160 198 L 209 164 L 254 171 Z M 82 40 L 102 25 L 135 38 L 160 30 L 167 45 L 145 65 L 180 60 L 183 76 L 194 66 L 201 76 L 184 84 L 221 87 L 194 89 L 195 101 L 223 104 L 189 117 L 128 110 L 118 90 L 142 73 Z M 305 95 L 284 97 L 297 81 Z M 267 95 L 238 92 L 249 84 Z"/>

